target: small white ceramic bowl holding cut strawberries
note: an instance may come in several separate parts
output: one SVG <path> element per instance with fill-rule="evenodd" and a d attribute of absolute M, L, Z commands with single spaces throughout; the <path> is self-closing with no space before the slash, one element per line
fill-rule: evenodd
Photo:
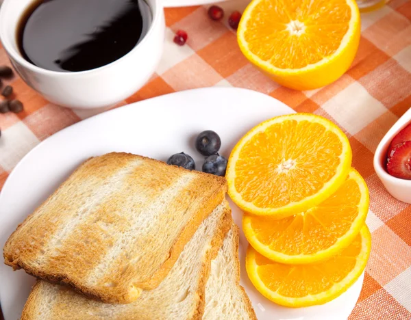
<path fill-rule="evenodd" d="M 374 169 L 387 191 L 400 201 L 411 203 L 411 180 L 405 180 L 391 176 L 386 171 L 386 158 L 388 147 L 399 131 L 411 123 L 411 109 L 409 109 L 386 133 L 379 142 L 374 155 Z"/>

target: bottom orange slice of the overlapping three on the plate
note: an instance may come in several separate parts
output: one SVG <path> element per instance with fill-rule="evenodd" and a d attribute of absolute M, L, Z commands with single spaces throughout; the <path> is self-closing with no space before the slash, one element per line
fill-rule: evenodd
<path fill-rule="evenodd" d="M 345 292 L 362 274 L 371 250 L 371 234 L 364 225 L 340 254 L 311 265 L 283 265 L 265 258 L 251 245 L 246 269 L 251 282 L 267 299 L 289 307 L 324 304 Z"/>

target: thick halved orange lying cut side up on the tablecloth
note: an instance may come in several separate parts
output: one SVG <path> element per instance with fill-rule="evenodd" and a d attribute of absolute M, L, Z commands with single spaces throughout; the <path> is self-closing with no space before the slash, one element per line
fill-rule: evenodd
<path fill-rule="evenodd" d="M 242 14 L 238 44 L 278 83 L 311 90 L 336 81 L 360 42 L 355 0 L 253 0 Z"/>

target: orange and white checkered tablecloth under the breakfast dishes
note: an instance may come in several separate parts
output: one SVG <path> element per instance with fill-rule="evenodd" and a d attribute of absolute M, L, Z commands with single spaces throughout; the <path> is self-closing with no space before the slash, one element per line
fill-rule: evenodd
<path fill-rule="evenodd" d="M 244 4 L 229 1 L 222 6 L 229 12 Z M 336 122 L 349 137 L 353 166 L 371 196 L 367 224 L 373 245 L 364 287 L 349 319 L 411 319 L 411 206 L 392 198 L 373 170 L 380 139 L 411 107 L 411 1 L 390 1 L 362 14 L 360 48 L 351 68 L 332 85 L 309 92 L 284 88 L 253 68 L 240 53 L 235 32 L 210 21 L 206 7 L 166 9 L 166 24 L 164 55 L 155 75 L 120 105 L 179 90 L 234 86 Z M 188 32 L 185 46 L 173 43 L 177 29 Z M 0 46 L 3 64 L 10 62 Z M 0 188 L 36 144 L 90 116 L 48 103 L 18 77 L 8 82 L 25 111 L 0 114 Z"/>

